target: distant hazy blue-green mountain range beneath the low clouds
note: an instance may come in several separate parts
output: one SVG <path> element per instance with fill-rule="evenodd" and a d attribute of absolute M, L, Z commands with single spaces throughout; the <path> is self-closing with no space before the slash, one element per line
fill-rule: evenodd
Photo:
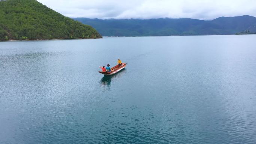
<path fill-rule="evenodd" d="M 189 18 L 89 19 L 74 18 L 94 27 L 102 36 L 171 36 L 235 34 L 256 32 L 253 16 L 220 17 L 211 21 Z"/>

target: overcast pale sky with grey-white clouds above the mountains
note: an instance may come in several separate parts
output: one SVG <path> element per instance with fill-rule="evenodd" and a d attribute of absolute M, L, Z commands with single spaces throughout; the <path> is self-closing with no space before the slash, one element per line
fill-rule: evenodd
<path fill-rule="evenodd" d="M 256 0 L 37 0 L 70 18 L 194 18 L 256 16 Z"/>

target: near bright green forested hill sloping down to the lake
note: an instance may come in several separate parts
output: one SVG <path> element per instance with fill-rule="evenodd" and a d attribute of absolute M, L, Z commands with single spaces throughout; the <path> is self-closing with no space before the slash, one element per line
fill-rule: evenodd
<path fill-rule="evenodd" d="M 0 0 L 0 40 L 77 38 L 101 35 L 36 0 Z"/>

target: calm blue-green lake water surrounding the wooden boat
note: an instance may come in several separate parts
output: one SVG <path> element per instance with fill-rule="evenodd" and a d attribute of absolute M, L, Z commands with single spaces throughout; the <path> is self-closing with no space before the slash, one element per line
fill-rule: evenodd
<path fill-rule="evenodd" d="M 255 40 L 0 42 L 0 143 L 255 144 Z"/>

